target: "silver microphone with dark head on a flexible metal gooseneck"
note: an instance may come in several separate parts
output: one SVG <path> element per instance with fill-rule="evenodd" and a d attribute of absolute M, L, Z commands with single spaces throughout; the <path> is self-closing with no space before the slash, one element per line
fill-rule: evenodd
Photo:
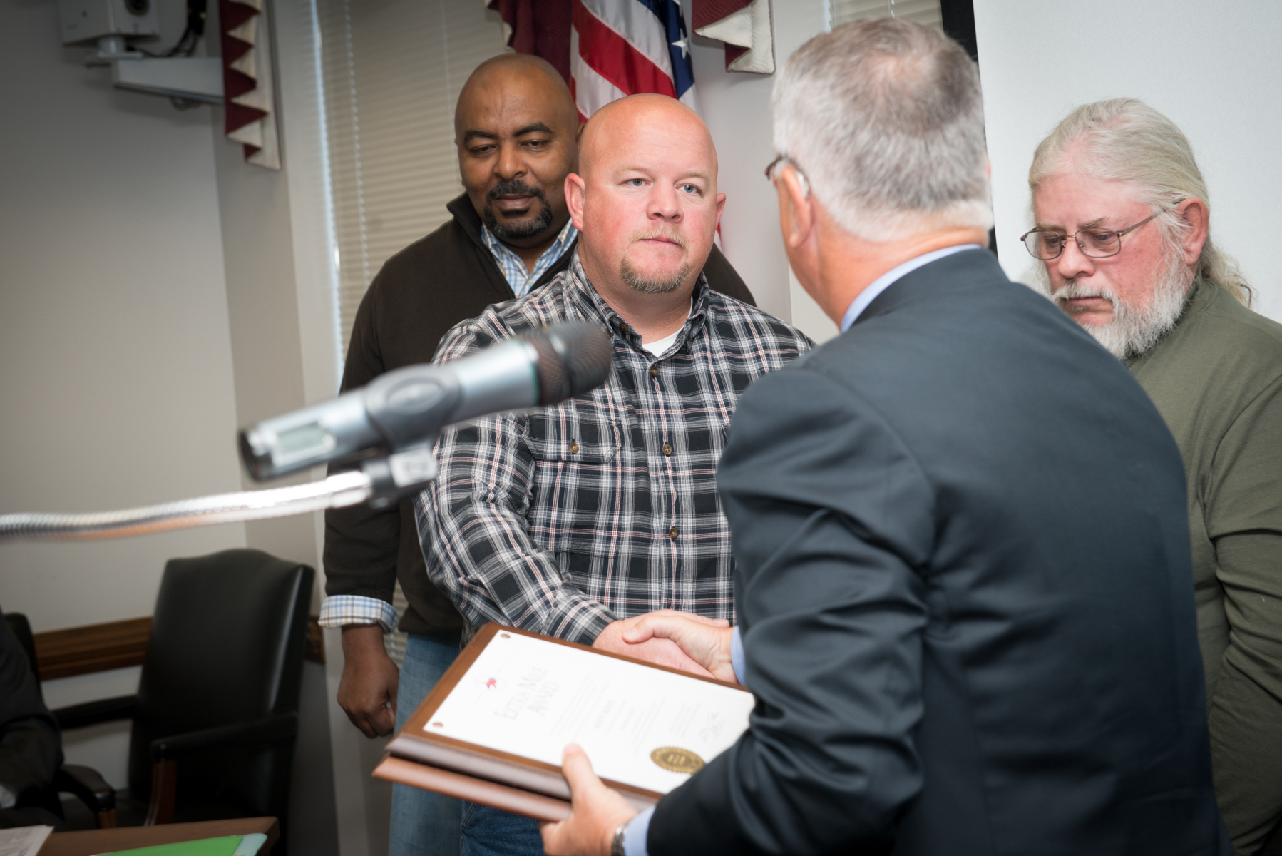
<path fill-rule="evenodd" d="M 613 348 L 582 321 L 529 330 L 444 366 L 406 366 L 338 398 L 259 422 L 240 435 L 258 480 L 362 454 L 358 468 L 322 481 L 224 493 L 159 506 L 85 513 L 0 515 L 0 542 L 95 540 L 171 529 L 304 515 L 368 503 L 386 508 L 436 477 L 432 444 L 444 425 L 560 403 L 605 382 Z"/>

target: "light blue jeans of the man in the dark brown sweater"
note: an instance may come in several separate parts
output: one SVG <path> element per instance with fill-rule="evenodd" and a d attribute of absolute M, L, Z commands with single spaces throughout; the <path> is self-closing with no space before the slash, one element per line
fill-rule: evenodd
<path fill-rule="evenodd" d="M 396 689 L 399 732 L 459 656 L 459 637 L 410 634 Z M 463 803 L 408 784 L 392 785 L 388 856 L 458 856 Z"/>

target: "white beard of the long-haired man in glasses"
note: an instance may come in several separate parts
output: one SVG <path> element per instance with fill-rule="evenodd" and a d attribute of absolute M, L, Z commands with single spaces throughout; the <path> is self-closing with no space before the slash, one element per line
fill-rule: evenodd
<path fill-rule="evenodd" d="M 1046 266 L 1037 266 L 1038 290 L 1060 309 L 1070 298 L 1104 298 L 1113 304 L 1113 320 L 1108 323 L 1078 322 L 1078 325 L 1118 359 L 1142 354 L 1170 332 L 1183 314 L 1190 281 L 1188 267 L 1183 259 L 1174 253 L 1169 254 L 1164 270 L 1154 284 L 1149 305 L 1136 309 L 1108 289 L 1078 285 L 1073 281 L 1053 293 Z"/>

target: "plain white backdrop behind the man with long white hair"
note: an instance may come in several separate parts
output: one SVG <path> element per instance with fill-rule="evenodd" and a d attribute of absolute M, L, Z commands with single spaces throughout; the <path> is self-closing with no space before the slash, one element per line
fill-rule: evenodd
<path fill-rule="evenodd" d="M 1078 104 L 1133 96 L 1194 145 L 1210 189 L 1211 234 L 1282 320 L 1276 262 L 1282 198 L 1282 3 L 1277 0 L 974 0 L 1003 267 L 1031 282 L 1018 237 L 1031 228 L 1033 149 Z"/>

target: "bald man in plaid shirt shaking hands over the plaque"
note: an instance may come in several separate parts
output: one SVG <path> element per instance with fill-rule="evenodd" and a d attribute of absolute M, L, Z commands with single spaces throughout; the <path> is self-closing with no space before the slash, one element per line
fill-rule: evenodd
<path fill-rule="evenodd" d="M 701 672 L 667 639 L 624 643 L 624 620 L 664 608 L 733 620 L 717 461 L 740 393 L 812 343 L 699 273 L 726 196 L 694 112 L 658 95 L 614 101 L 585 128 L 579 163 L 565 182 L 581 232 L 569 268 L 455 326 L 437 361 L 588 321 L 612 336 L 610 377 L 442 434 L 419 538 L 473 629 L 497 621 Z"/>

